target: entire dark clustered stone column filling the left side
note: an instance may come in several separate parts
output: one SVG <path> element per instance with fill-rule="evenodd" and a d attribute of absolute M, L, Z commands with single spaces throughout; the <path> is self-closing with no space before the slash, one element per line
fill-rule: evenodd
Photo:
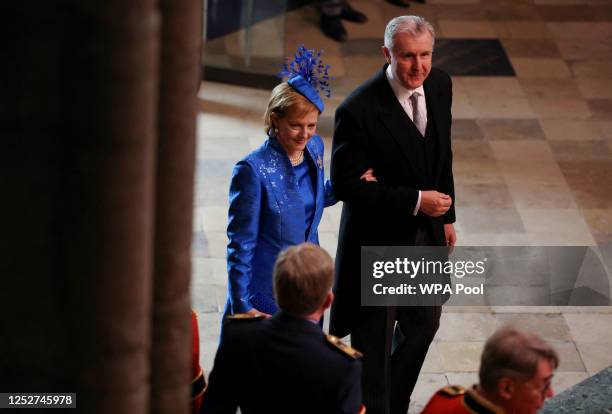
<path fill-rule="evenodd" d="M 0 5 L 2 392 L 187 412 L 198 7 Z"/>

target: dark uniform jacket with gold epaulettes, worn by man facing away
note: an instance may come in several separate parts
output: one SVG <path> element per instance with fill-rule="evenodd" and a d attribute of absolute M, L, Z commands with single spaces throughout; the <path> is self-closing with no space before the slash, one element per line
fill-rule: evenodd
<path fill-rule="evenodd" d="M 332 338 L 333 339 L 333 338 Z M 279 312 L 227 320 L 202 414 L 351 413 L 361 407 L 360 355 L 308 320 Z"/>

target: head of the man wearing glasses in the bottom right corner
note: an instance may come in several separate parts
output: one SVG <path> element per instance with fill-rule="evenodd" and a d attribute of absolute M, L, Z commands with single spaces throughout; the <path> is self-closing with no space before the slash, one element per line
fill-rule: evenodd
<path fill-rule="evenodd" d="M 479 387 L 508 412 L 535 413 L 553 395 L 557 352 L 532 333 L 507 326 L 495 332 L 482 352 Z"/>

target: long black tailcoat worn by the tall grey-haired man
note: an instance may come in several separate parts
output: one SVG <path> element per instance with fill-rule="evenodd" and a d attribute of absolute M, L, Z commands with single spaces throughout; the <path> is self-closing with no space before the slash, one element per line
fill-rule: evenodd
<path fill-rule="evenodd" d="M 380 72 L 338 107 L 332 146 L 331 180 L 344 201 L 336 254 L 336 299 L 330 332 L 350 333 L 367 308 L 360 307 L 361 246 L 413 246 L 426 229 L 444 246 L 444 224 L 455 222 L 451 151 L 451 79 L 432 68 L 423 88 L 426 139 L 412 123 Z M 378 182 L 360 180 L 374 169 Z M 413 216 L 419 190 L 449 194 L 453 205 L 441 217 Z"/>

